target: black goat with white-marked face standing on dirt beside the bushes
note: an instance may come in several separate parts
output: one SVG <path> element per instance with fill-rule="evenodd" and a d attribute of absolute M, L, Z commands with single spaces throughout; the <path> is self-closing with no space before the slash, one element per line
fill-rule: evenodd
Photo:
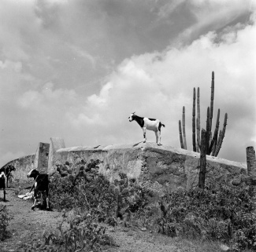
<path fill-rule="evenodd" d="M 38 197 L 39 192 L 41 192 L 41 206 L 43 206 L 43 192 L 46 192 L 46 210 L 50 210 L 48 174 L 40 174 L 38 170 L 32 169 L 28 173 L 27 177 L 34 178 L 34 184 L 32 185 L 32 188 L 30 189 L 30 192 L 32 192 L 32 189 L 34 188 L 34 203 L 32 205 L 32 210 L 34 210 L 34 208 L 35 208 L 36 197 Z"/>

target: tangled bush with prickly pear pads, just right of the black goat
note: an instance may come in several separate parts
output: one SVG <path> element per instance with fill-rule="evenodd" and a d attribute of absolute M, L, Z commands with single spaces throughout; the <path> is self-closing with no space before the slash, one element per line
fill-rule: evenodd
<path fill-rule="evenodd" d="M 90 210 L 98 221 L 106 221 L 115 225 L 117 218 L 131 219 L 132 213 L 141 211 L 149 203 L 150 191 L 136 184 L 135 180 L 128 180 L 124 173 L 120 173 L 120 180 L 112 184 L 101 174 L 95 176 L 95 166 L 98 162 L 91 160 L 87 164 L 86 176 L 60 177 L 58 174 L 51 179 L 51 205 L 57 210 L 72 210 L 73 207 Z M 77 167 L 72 167 L 79 170 Z M 94 179 L 87 180 L 87 177 Z"/>

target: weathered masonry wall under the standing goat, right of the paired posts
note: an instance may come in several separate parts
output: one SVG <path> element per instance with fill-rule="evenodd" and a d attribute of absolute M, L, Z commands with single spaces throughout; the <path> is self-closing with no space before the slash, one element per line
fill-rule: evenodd
<path fill-rule="evenodd" d="M 161 192 L 164 188 L 197 186 L 199 157 L 196 152 L 154 143 L 118 144 L 61 148 L 54 154 L 53 167 L 66 161 L 72 165 L 80 163 L 81 159 L 87 163 L 91 159 L 99 159 L 99 172 L 109 181 L 118 179 L 118 173 L 122 172 Z M 242 163 L 226 159 L 207 156 L 207 164 L 206 182 L 214 180 L 229 183 L 234 177 L 247 173 L 247 167 Z"/>

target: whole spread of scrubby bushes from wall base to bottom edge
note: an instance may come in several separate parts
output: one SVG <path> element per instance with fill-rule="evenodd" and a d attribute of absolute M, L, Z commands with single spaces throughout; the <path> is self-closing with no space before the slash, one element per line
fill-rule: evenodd
<path fill-rule="evenodd" d="M 229 251 L 256 250 L 255 203 L 247 188 L 215 183 L 205 190 L 177 188 L 159 197 L 124 173 L 110 184 L 97 173 L 97 162 L 89 166 L 87 176 L 54 174 L 51 206 L 62 211 L 63 221 L 20 251 L 109 250 L 115 244 L 106 228 L 117 225 L 181 239 L 218 241 Z M 75 168 L 81 171 L 79 165 Z"/>

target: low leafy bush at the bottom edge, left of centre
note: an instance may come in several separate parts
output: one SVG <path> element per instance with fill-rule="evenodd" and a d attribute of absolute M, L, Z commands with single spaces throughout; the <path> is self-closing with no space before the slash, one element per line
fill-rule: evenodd
<path fill-rule="evenodd" d="M 114 245 L 113 239 L 105 234 L 106 228 L 98 225 L 91 214 L 72 210 L 63 211 L 62 217 L 57 229 L 46 230 L 43 239 L 22 245 L 20 251 L 101 251 Z"/>

